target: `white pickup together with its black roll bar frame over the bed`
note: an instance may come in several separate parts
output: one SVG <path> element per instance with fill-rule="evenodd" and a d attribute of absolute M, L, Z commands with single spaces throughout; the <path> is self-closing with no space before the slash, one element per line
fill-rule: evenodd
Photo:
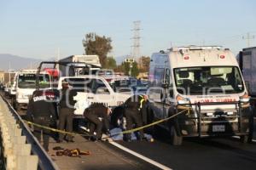
<path fill-rule="evenodd" d="M 38 71 L 41 71 L 44 68 L 44 65 L 64 65 L 66 67 L 81 68 L 86 67 L 84 62 L 54 62 L 54 61 L 44 61 L 41 62 Z M 69 83 L 71 88 L 77 93 L 73 96 L 73 99 L 76 100 L 75 107 L 75 118 L 84 117 L 84 109 L 88 107 L 91 103 L 103 103 L 109 107 L 115 107 L 117 105 L 122 105 L 126 99 L 128 99 L 131 94 L 121 94 L 115 93 L 113 88 L 109 83 L 100 76 L 96 75 L 79 75 L 71 77 L 59 77 L 58 80 L 55 80 L 56 86 L 48 90 L 48 94 L 54 95 L 53 98 L 57 99 L 54 102 L 58 102 L 58 97 L 61 91 L 61 82 L 65 80 Z M 38 83 L 37 83 L 38 84 Z M 68 95 L 68 94 L 67 94 Z"/>

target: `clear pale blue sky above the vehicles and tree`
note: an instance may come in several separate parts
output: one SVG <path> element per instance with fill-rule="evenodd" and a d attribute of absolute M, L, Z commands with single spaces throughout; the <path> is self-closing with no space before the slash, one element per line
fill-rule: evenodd
<path fill-rule="evenodd" d="M 0 0 L 0 54 L 49 59 L 83 54 L 84 35 L 111 37 L 110 56 L 131 54 L 140 20 L 140 54 L 183 45 L 256 46 L 255 0 Z"/>

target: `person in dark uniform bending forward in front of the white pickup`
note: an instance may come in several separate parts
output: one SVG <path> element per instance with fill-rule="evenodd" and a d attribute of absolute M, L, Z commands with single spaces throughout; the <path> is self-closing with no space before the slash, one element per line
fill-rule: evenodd
<path fill-rule="evenodd" d="M 111 110 L 103 104 L 94 103 L 84 110 L 84 118 L 90 122 L 90 135 L 92 140 L 102 139 L 102 130 L 109 134 L 108 115 Z M 96 132 L 96 135 L 94 135 Z"/>

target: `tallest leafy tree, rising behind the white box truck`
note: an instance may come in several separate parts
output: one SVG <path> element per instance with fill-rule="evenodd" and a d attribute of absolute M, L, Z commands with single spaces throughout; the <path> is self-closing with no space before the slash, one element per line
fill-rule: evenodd
<path fill-rule="evenodd" d="M 89 34 L 86 34 L 83 39 L 85 54 L 97 54 L 100 58 L 102 67 L 105 67 L 107 55 L 112 49 L 111 42 L 112 40 L 110 37 L 101 37 L 96 35 L 96 33 L 90 32 Z"/>

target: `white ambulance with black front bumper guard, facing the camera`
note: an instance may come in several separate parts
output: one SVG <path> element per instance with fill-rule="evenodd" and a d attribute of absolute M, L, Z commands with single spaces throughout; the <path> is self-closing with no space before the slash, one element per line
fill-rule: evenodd
<path fill-rule="evenodd" d="M 148 89 L 152 122 L 163 122 L 172 144 L 183 137 L 252 137 L 253 113 L 236 57 L 218 46 L 188 46 L 154 53 Z"/>

